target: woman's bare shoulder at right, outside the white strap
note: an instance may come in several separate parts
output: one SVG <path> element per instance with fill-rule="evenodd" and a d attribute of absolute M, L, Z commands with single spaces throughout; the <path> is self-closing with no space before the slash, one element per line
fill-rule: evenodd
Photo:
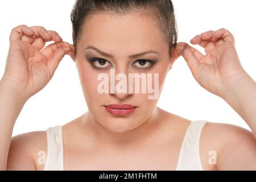
<path fill-rule="evenodd" d="M 256 169 L 256 139 L 253 133 L 228 123 L 208 122 L 203 127 L 201 161 L 206 169 Z M 210 164 L 210 152 L 216 152 L 216 164 Z"/>

